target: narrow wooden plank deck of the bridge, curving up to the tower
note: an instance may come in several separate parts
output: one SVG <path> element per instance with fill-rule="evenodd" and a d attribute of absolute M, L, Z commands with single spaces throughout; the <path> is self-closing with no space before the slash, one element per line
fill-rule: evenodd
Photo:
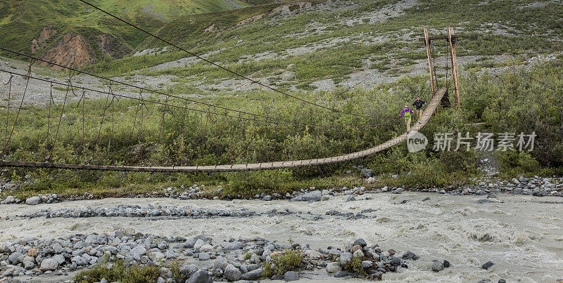
<path fill-rule="evenodd" d="M 430 103 L 426 106 L 424 114 L 422 114 L 422 121 L 412 126 L 411 131 L 419 131 L 426 125 L 430 117 L 438 107 L 440 100 L 446 91 L 440 89 L 434 93 Z M 326 157 L 319 159 L 305 159 L 284 162 L 262 162 L 253 164 L 231 164 L 231 165 L 217 165 L 217 166 L 103 166 L 103 165 L 79 165 L 79 164 L 54 164 L 49 162 L 18 162 L 1 160 L 0 166 L 10 167 L 32 167 L 32 168 L 57 168 L 57 169 L 79 169 L 79 170 L 101 170 L 101 171 L 137 171 L 137 172 L 229 172 L 229 171 L 257 171 L 257 170 L 270 170 L 270 169 L 284 169 L 294 168 L 301 166 L 315 166 L 320 164 L 331 164 L 336 162 L 344 162 L 360 157 L 375 154 L 389 147 L 402 143 L 407 140 L 407 133 L 381 143 L 376 147 L 362 150 L 360 152 L 353 152 L 343 154 L 336 157 Z"/>

